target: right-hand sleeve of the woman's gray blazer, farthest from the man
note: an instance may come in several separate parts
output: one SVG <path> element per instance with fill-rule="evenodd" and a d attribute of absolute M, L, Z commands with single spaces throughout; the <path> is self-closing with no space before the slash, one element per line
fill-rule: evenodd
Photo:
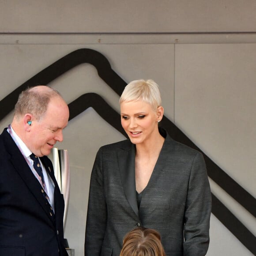
<path fill-rule="evenodd" d="M 203 155 L 192 161 L 184 213 L 184 256 L 205 256 L 209 247 L 211 190 Z"/>

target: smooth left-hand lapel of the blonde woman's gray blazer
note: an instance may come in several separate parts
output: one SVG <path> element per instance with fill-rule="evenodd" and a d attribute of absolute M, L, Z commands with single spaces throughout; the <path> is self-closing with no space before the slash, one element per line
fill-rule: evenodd
<path fill-rule="evenodd" d="M 120 178 L 124 188 L 124 194 L 130 203 L 132 210 L 139 216 L 135 184 L 135 145 L 129 148 L 121 148 L 117 151 Z"/>

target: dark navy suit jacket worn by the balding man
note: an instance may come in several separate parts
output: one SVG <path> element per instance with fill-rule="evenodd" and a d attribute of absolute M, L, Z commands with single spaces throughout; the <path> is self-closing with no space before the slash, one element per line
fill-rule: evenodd
<path fill-rule="evenodd" d="M 41 159 L 52 178 L 55 216 L 7 129 L 0 135 L 0 256 L 68 256 L 64 248 L 64 198 L 48 157 Z"/>

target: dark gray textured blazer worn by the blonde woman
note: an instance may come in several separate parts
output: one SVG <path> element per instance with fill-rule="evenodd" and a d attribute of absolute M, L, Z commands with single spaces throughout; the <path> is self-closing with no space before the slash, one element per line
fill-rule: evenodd
<path fill-rule="evenodd" d="M 165 137 L 136 201 L 135 151 L 130 140 L 99 149 L 91 173 L 85 256 L 119 256 L 136 226 L 158 230 L 167 256 L 204 256 L 209 246 L 211 191 L 200 152 Z"/>

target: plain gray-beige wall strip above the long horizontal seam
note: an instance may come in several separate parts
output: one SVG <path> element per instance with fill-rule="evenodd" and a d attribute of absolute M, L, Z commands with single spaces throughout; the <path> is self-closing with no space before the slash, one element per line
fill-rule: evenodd
<path fill-rule="evenodd" d="M 2 0 L 0 32 L 145 33 L 256 30 L 254 0 Z"/>

